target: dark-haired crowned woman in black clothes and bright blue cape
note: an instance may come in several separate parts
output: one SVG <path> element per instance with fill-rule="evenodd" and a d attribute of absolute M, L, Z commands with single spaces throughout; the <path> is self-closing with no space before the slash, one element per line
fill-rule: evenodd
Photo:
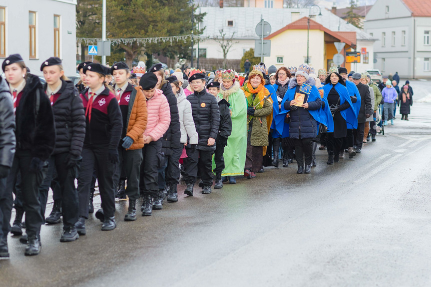
<path fill-rule="evenodd" d="M 358 118 L 349 96 L 349 91 L 346 88 L 346 83 L 336 68 L 330 70 L 330 74 L 325 80 L 323 91 L 334 119 L 334 131 L 328 132 L 326 136 L 327 164 L 334 164 L 340 159 L 340 149 L 343 144 L 343 138 L 347 136 L 348 124 L 357 126 Z"/>

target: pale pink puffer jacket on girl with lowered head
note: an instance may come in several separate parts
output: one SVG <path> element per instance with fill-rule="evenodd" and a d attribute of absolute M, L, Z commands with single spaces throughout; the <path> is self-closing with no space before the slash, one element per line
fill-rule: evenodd
<path fill-rule="evenodd" d="M 168 100 L 161 90 L 156 89 L 154 96 L 147 100 L 147 112 L 147 127 L 144 131 L 144 138 L 149 135 L 153 141 L 157 141 L 168 130 L 171 123 Z"/>

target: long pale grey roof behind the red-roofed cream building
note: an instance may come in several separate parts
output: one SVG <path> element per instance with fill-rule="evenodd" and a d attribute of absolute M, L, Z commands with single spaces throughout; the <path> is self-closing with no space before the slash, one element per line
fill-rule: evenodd
<path fill-rule="evenodd" d="M 200 7 L 200 12 L 206 12 L 201 27 L 205 26 L 202 36 L 214 37 L 219 35 L 223 29 L 230 37 L 235 32 L 236 39 L 258 39 L 255 27 L 263 19 L 271 24 L 271 33 L 283 28 L 292 22 L 292 13 L 299 12 L 299 18 L 309 14 L 309 8 L 255 8 L 255 7 Z M 312 10 L 312 15 L 319 13 L 317 9 Z M 358 40 L 375 40 L 363 30 L 349 24 L 331 11 L 322 8 L 322 16 L 315 15 L 313 20 L 332 31 L 356 32 Z M 228 27 L 227 21 L 234 20 L 234 26 Z"/>

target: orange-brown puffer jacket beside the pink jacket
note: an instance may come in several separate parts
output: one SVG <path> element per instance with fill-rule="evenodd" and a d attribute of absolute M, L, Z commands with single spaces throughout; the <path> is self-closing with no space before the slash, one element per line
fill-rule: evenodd
<path fill-rule="evenodd" d="M 127 133 L 126 135 L 133 139 L 133 144 L 130 146 L 130 150 L 140 149 L 144 147 L 144 131 L 147 127 L 147 101 L 142 87 L 134 87 L 136 95 L 133 99 L 133 92 L 130 96 L 128 114 L 130 114 L 127 121 Z M 130 104 L 132 106 L 130 107 Z"/>

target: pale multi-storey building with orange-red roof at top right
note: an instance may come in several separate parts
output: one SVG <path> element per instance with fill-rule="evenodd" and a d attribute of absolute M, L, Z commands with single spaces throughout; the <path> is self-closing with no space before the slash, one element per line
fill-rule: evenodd
<path fill-rule="evenodd" d="M 375 68 L 406 78 L 431 78 L 430 0 L 378 0 L 364 28 L 377 38 Z"/>

